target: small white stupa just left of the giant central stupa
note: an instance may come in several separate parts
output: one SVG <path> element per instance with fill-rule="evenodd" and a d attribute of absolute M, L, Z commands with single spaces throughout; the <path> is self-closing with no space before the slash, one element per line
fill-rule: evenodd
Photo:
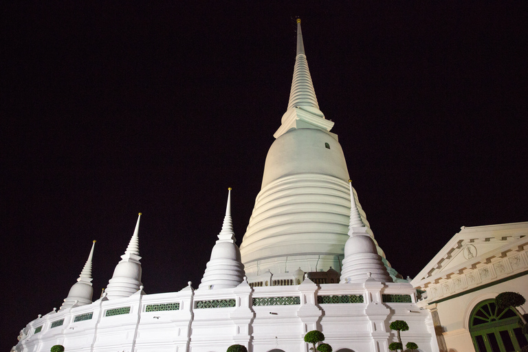
<path fill-rule="evenodd" d="M 228 191 L 228 205 L 225 208 L 222 230 L 212 248 L 198 289 L 221 289 L 238 286 L 244 279 L 244 265 L 240 259 L 239 247 L 235 244 L 231 220 L 231 188 Z"/>

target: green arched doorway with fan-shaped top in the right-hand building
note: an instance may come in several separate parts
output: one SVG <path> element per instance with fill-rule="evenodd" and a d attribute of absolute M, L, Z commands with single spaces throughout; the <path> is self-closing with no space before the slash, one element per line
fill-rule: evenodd
<path fill-rule="evenodd" d="M 500 309 L 494 299 L 478 303 L 470 315 L 470 333 L 476 352 L 516 352 L 528 345 L 511 308 Z"/>

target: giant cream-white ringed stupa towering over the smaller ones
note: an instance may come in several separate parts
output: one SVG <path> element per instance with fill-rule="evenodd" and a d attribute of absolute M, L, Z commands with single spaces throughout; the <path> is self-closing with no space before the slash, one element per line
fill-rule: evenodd
<path fill-rule="evenodd" d="M 288 108 L 267 153 L 262 188 L 240 246 L 250 281 L 267 270 L 340 271 L 349 239 L 349 172 L 332 126 L 319 109 L 298 19 Z M 358 201 L 356 206 L 373 238 Z M 377 252 L 385 257 L 379 246 Z"/>

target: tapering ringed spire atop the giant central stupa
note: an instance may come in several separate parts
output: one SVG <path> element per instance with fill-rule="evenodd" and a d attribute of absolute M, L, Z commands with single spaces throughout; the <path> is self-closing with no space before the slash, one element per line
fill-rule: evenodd
<path fill-rule="evenodd" d="M 294 107 L 314 107 L 319 109 L 314 84 L 311 82 L 310 70 L 306 60 L 303 32 L 300 30 L 300 19 L 297 19 L 297 54 L 295 58 L 292 90 L 289 93 L 288 109 Z"/>

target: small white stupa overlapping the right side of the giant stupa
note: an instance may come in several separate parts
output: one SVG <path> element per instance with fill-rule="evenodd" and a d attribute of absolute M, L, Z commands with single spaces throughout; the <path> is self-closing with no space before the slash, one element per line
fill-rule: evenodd
<path fill-rule="evenodd" d="M 358 207 L 355 205 L 355 195 L 350 185 L 350 225 L 347 243 L 344 245 L 344 259 L 340 283 L 363 283 L 368 278 L 381 283 L 392 283 L 380 254 L 377 254 L 376 244 L 366 232 Z"/>

